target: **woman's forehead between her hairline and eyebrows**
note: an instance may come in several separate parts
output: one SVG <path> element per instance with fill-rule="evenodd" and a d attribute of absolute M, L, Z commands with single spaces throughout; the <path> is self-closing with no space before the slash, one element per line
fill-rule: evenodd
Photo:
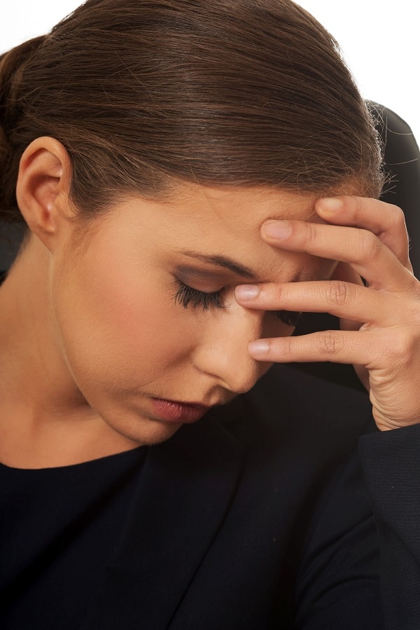
<path fill-rule="evenodd" d="M 164 200 L 126 198 L 109 213 L 109 237 L 129 250 L 153 252 L 174 264 L 207 265 L 209 258 L 226 258 L 253 271 L 260 281 L 305 279 L 317 273 L 321 259 L 281 252 L 262 240 L 267 219 L 320 221 L 314 212 L 315 194 L 269 187 L 218 189 L 186 184 Z M 117 237 L 119 235 L 120 238 Z M 117 238 L 116 238 L 117 237 Z M 322 266 L 322 265 L 321 265 Z M 286 278 L 284 273 L 286 272 Z"/>

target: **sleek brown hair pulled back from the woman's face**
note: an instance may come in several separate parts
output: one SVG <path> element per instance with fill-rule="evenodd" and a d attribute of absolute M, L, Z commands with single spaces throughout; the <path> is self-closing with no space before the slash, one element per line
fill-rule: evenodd
<path fill-rule="evenodd" d="M 87 0 L 0 57 L 0 208 L 22 152 L 71 156 L 93 213 L 175 180 L 326 193 L 381 188 L 377 134 L 337 43 L 290 0 Z"/>

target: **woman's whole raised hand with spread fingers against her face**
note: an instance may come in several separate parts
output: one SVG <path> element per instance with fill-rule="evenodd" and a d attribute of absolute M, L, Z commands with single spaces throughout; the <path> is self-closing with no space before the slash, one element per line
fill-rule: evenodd
<path fill-rule="evenodd" d="M 328 224 L 266 221 L 261 235 L 279 249 L 339 261 L 332 279 L 258 285 L 252 299 L 239 286 L 236 297 L 246 308 L 331 313 L 341 329 L 260 339 L 249 352 L 265 362 L 354 364 L 379 429 L 420 423 L 420 282 L 403 213 L 361 197 L 320 199 L 316 212 Z"/>

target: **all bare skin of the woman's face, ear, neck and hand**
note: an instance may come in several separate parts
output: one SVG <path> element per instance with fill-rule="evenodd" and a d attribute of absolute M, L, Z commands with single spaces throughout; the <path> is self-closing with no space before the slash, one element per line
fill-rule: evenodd
<path fill-rule="evenodd" d="M 381 430 L 419 421 L 420 289 L 398 208 L 179 184 L 83 222 L 70 177 L 54 139 L 22 157 L 31 235 L 0 289 L 3 463 L 68 465 L 168 439 L 180 423 L 153 397 L 228 402 L 275 361 L 356 364 Z M 220 292 L 216 303 L 186 304 L 179 280 Z M 290 338 L 280 309 L 326 310 L 343 330 Z"/>

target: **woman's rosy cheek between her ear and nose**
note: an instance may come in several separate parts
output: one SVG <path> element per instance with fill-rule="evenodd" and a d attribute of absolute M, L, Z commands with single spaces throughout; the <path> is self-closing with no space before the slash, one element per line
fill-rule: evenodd
<path fill-rule="evenodd" d="M 104 268 L 106 273 L 104 273 Z M 195 334 L 162 279 L 127 267 L 80 266 L 65 289 L 57 286 L 55 313 L 66 362 L 79 387 L 138 387 L 186 360 Z M 165 287 L 166 288 L 166 287 Z"/>

